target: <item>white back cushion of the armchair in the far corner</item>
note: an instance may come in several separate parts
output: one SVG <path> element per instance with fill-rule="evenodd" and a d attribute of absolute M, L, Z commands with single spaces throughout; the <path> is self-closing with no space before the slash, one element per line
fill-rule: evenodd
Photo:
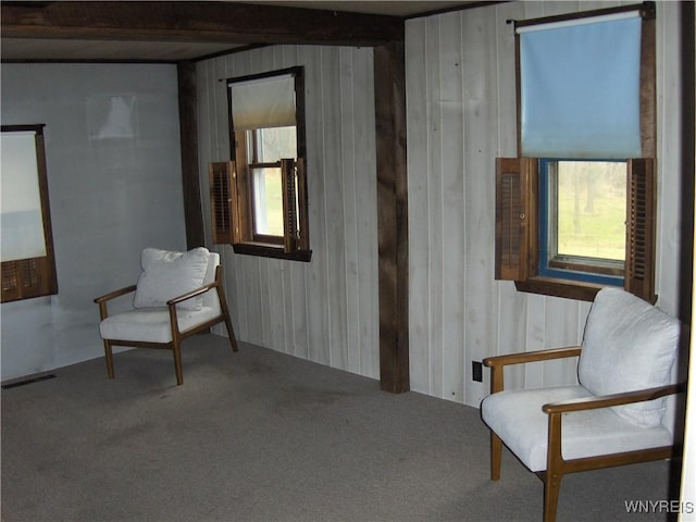
<path fill-rule="evenodd" d="M 188 252 L 146 248 L 140 256 L 142 272 L 138 278 L 135 308 L 164 307 L 170 299 L 203 285 L 210 252 L 199 247 Z M 178 304 L 185 310 L 200 310 L 202 297 Z"/>

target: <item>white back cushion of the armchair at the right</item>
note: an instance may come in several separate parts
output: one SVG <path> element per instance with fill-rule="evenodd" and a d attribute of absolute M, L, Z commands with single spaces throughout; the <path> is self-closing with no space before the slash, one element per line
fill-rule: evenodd
<path fill-rule="evenodd" d="M 670 384 L 679 335 L 676 319 L 627 291 L 604 288 L 587 316 L 579 381 L 593 395 Z M 634 424 L 655 427 L 661 422 L 664 399 L 613 409 Z"/>

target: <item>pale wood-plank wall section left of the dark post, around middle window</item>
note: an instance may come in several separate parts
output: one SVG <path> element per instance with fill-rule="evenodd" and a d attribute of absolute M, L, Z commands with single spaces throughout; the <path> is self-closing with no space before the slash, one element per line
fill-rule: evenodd
<path fill-rule="evenodd" d="M 380 377 L 372 49 L 274 46 L 197 65 L 200 172 L 229 159 L 225 78 L 304 66 L 310 263 L 222 253 L 239 339 Z M 222 331 L 221 331 L 222 332 Z"/>

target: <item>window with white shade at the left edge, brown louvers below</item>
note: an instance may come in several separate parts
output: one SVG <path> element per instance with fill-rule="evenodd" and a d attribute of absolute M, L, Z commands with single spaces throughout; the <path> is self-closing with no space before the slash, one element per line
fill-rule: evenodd
<path fill-rule="evenodd" d="M 2 302 L 58 293 L 44 125 L 3 125 Z"/>

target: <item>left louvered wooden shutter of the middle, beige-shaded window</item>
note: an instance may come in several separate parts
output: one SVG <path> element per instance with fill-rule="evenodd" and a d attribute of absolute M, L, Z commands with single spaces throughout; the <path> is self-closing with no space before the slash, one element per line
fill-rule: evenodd
<path fill-rule="evenodd" d="M 210 210 L 212 217 L 213 244 L 232 244 L 233 233 L 233 172 L 234 162 L 210 163 Z"/>

